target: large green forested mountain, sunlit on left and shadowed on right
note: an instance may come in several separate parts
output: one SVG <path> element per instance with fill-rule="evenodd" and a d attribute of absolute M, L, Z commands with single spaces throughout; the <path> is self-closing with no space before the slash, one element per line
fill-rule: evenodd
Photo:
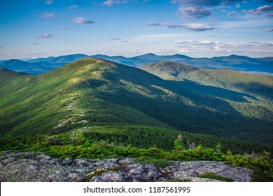
<path fill-rule="evenodd" d="M 196 71 L 191 66 L 181 69 L 186 75 Z M 241 74 L 228 73 L 234 78 Z M 177 79 L 179 73 L 166 73 L 167 78 L 173 77 L 168 79 L 175 80 L 164 80 L 97 58 L 80 59 L 38 75 L 0 69 L 0 76 L 0 137 L 80 129 L 86 133 L 97 130 L 102 135 L 111 132 L 111 139 L 115 128 L 135 132 L 144 141 L 174 130 L 260 144 L 272 145 L 273 141 L 272 94 L 265 96 L 247 88 L 238 92 L 202 85 Z M 272 78 L 267 79 L 268 83 L 260 85 L 272 90 Z M 149 129 L 157 131 L 150 135 Z M 206 135 L 203 139 L 216 140 Z"/>

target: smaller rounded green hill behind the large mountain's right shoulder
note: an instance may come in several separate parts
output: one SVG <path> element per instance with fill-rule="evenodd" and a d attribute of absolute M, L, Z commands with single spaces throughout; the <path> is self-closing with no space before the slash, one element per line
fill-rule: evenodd
<path fill-rule="evenodd" d="M 230 69 L 202 69 L 175 62 L 158 62 L 140 68 L 165 80 L 191 80 L 202 85 L 251 94 L 268 104 L 273 102 L 272 76 L 247 74 Z"/>

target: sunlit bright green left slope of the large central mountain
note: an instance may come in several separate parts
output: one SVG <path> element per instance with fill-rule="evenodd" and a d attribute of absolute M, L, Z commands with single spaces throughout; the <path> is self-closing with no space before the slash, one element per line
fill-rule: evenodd
<path fill-rule="evenodd" d="M 1 134 L 59 133 L 90 124 L 165 126 L 140 111 L 99 99 L 102 85 L 111 85 L 103 75 L 112 66 L 90 58 L 36 76 L 8 71 L 12 77 L 1 78 L 0 85 Z"/>

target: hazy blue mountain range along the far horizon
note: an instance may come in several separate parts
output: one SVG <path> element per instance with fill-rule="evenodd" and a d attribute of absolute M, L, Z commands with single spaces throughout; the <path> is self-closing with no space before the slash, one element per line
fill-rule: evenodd
<path fill-rule="evenodd" d="M 97 57 L 99 59 L 106 59 L 112 62 L 137 67 L 153 64 L 155 62 L 178 62 L 181 64 L 189 64 L 191 66 L 197 66 L 206 69 L 233 69 L 236 71 L 245 71 L 251 73 L 273 74 L 273 57 L 251 58 L 246 56 L 230 55 L 226 57 L 193 58 L 179 54 L 154 55 L 152 53 L 130 58 L 123 56 L 88 56 L 83 54 L 75 54 L 18 61 L 16 64 L 14 62 L 10 62 L 10 60 L 6 60 L 0 62 L 0 68 L 37 74 L 50 71 L 59 66 L 68 64 L 78 59 L 83 59 L 85 57 Z"/>

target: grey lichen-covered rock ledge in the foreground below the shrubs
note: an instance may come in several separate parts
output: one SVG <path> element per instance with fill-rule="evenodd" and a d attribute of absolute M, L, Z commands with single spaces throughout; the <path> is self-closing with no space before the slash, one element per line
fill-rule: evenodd
<path fill-rule="evenodd" d="M 135 163 L 131 158 L 87 160 L 51 158 L 44 153 L 14 153 L 0 156 L 0 181 L 102 181 L 141 182 L 200 179 L 199 174 L 212 172 L 235 181 L 251 181 L 252 171 L 223 162 L 174 162 L 169 167 Z"/>

